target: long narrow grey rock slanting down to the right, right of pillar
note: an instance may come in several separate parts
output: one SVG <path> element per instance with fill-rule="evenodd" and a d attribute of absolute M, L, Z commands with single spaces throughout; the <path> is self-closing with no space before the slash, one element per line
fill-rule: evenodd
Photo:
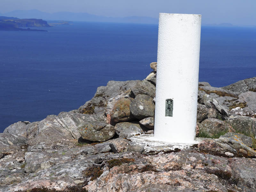
<path fill-rule="evenodd" d="M 228 116 L 228 110 L 225 107 L 223 107 L 218 100 L 212 98 L 208 94 L 205 94 L 202 99 L 203 99 L 204 105 L 207 108 L 215 108 L 223 116 Z"/>

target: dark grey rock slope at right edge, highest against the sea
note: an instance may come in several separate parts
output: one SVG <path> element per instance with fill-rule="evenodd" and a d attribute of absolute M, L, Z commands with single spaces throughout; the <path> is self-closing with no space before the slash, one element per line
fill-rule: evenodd
<path fill-rule="evenodd" d="M 240 93 L 244 93 L 252 90 L 254 91 L 256 90 L 256 77 L 244 79 L 222 88 L 233 91 L 233 92 L 240 92 Z"/>

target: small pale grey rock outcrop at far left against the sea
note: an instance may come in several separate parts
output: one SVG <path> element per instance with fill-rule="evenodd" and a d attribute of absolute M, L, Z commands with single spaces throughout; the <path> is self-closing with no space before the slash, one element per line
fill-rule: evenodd
<path fill-rule="evenodd" d="M 27 127 L 29 126 L 29 124 L 29 121 L 19 121 L 5 128 L 4 133 L 27 137 Z"/>

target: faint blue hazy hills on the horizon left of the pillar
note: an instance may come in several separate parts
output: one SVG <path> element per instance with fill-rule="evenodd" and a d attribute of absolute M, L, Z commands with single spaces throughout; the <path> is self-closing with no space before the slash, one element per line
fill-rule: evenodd
<path fill-rule="evenodd" d="M 158 24 L 158 18 L 152 17 L 104 17 L 93 15 L 85 12 L 72 13 L 72 12 L 56 12 L 46 13 L 38 10 L 15 10 L 12 12 L 4 13 L 4 16 L 18 17 L 18 18 L 36 18 L 43 20 L 66 20 L 66 21 L 91 21 L 91 22 L 120 22 L 120 23 L 146 23 Z"/>

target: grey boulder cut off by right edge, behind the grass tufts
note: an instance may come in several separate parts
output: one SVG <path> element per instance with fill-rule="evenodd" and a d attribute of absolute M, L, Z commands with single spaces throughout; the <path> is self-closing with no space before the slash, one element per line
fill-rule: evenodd
<path fill-rule="evenodd" d="M 256 136 L 256 118 L 240 115 L 230 115 L 226 123 L 230 124 L 236 132 Z"/>

